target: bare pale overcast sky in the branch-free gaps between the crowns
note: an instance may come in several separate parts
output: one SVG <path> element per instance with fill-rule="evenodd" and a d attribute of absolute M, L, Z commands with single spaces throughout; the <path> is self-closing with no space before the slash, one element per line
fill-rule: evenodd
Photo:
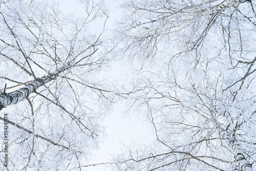
<path fill-rule="evenodd" d="M 84 14 L 79 1 L 56 0 L 56 2 L 59 3 L 59 9 L 64 13 L 72 13 L 76 16 L 83 16 Z M 123 1 L 105 0 L 106 8 L 109 11 L 106 28 L 112 28 L 111 26 L 114 24 L 114 21 L 122 15 L 119 8 L 121 2 Z M 115 63 L 112 65 L 112 70 L 108 75 L 118 79 L 121 84 L 124 84 L 129 82 L 132 73 L 129 66 Z M 88 163 L 84 163 L 84 165 L 108 162 L 108 159 L 111 159 L 111 155 L 121 152 L 122 143 L 130 144 L 136 141 L 147 144 L 153 140 L 153 134 L 147 124 L 137 114 L 132 114 L 131 116 L 123 115 L 123 109 L 124 104 L 114 104 L 113 113 L 102 122 L 102 125 L 105 126 L 107 137 L 100 144 L 100 148 L 95 156 Z M 106 169 L 101 166 L 90 166 L 88 170 L 100 171 Z"/>

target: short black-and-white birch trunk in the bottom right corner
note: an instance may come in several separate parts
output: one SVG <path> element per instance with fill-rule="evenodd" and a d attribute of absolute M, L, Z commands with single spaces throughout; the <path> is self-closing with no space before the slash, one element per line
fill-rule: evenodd
<path fill-rule="evenodd" d="M 242 146 L 232 138 L 231 132 L 226 132 L 225 134 L 225 131 L 223 130 L 220 132 L 220 134 L 225 137 L 229 146 L 232 148 L 232 151 L 234 152 L 235 163 L 239 166 L 241 171 L 253 171 L 251 164 L 245 158 Z"/>

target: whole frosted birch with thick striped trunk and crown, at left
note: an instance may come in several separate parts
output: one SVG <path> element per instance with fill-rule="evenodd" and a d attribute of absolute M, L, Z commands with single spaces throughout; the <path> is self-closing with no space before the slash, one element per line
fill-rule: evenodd
<path fill-rule="evenodd" d="M 52 1 L 0 5 L 0 139 L 4 121 L 9 139 L 1 170 L 84 169 L 114 97 L 95 78 L 109 60 L 102 4 L 81 1 L 83 18 L 61 14 Z"/>

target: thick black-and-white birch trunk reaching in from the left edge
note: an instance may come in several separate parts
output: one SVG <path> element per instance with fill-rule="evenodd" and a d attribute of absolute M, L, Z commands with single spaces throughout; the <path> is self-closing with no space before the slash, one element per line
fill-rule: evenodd
<path fill-rule="evenodd" d="M 63 67 L 59 68 L 55 72 L 48 74 L 47 76 L 36 78 L 33 82 L 27 84 L 24 88 L 17 90 L 13 93 L 1 93 L 0 94 L 0 111 L 10 104 L 15 104 L 23 99 L 27 98 L 31 93 L 35 92 L 39 87 L 43 86 L 47 82 L 55 79 L 58 74 L 65 70 L 68 70 L 72 66 L 67 63 Z"/>

